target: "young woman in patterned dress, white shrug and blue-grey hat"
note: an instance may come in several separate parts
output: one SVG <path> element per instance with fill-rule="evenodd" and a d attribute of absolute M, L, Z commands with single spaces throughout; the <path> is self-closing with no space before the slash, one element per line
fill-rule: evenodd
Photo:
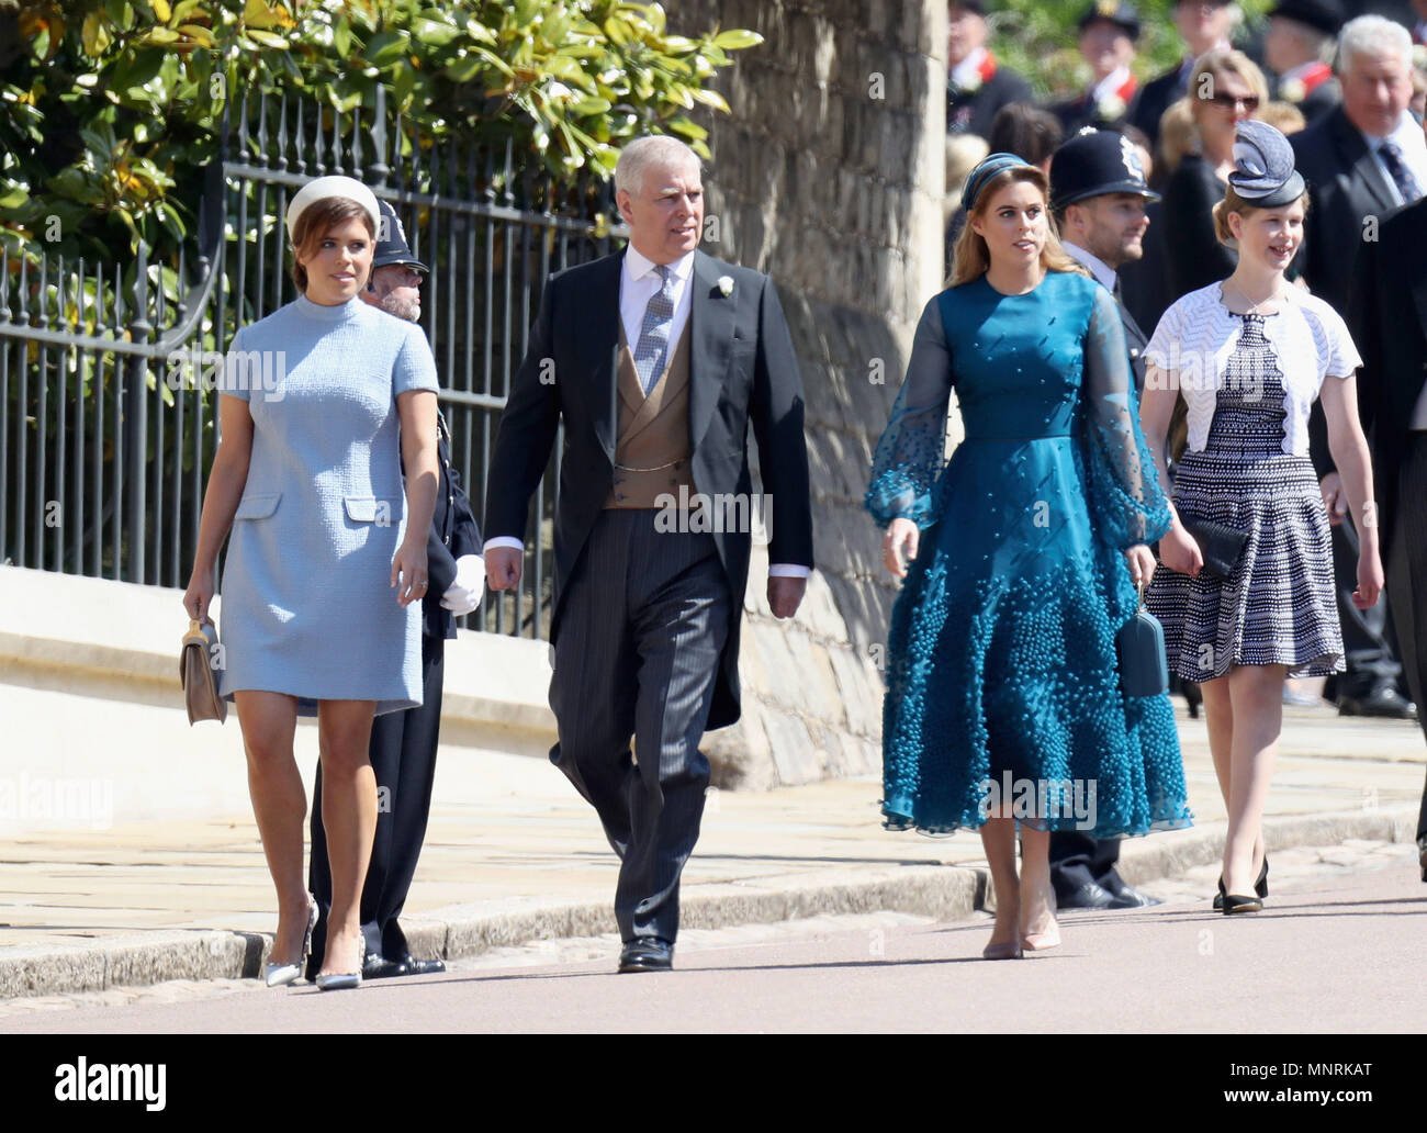
<path fill-rule="evenodd" d="M 1339 314 L 1284 280 L 1303 243 L 1303 177 L 1267 123 L 1239 123 L 1237 137 L 1214 230 L 1239 250 L 1239 265 L 1164 313 L 1144 351 L 1140 408 L 1162 482 L 1164 431 L 1180 394 L 1189 408 L 1174 519 L 1146 601 L 1164 624 L 1170 666 L 1203 688 L 1229 811 L 1214 899 L 1224 913 L 1257 912 L 1267 895 L 1261 828 L 1283 682 L 1343 669 L 1327 511 L 1309 459 L 1309 411 L 1319 397 L 1361 532 L 1354 605 L 1371 606 L 1383 586 L 1353 377 L 1361 358 Z M 1196 521 L 1246 537 L 1227 578 L 1206 571 L 1203 548 L 1186 529 Z"/>

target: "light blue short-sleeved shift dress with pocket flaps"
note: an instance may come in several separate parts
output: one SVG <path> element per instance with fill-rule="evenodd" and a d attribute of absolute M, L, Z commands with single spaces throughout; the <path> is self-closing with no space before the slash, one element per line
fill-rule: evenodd
<path fill-rule="evenodd" d="M 397 605 L 405 531 L 397 394 L 437 390 L 421 328 L 360 298 L 300 295 L 240 330 L 221 391 L 253 414 L 223 568 L 220 688 L 421 703 L 421 604 Z"/>

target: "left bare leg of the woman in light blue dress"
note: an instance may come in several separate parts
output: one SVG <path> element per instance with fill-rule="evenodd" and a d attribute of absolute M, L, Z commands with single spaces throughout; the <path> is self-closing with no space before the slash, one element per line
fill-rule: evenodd
<path fill-rule="evenodd" d="M 237 692 L 238 725 L 248 756 L 248 793 L 263 839 L 263 856 L 277 889 L 273 963 L 297 963 L 307 933 L 308 898 L 303 878 L 303 820 L 307 792 L 293 758 L 297 699 L 281 692 Z"/>

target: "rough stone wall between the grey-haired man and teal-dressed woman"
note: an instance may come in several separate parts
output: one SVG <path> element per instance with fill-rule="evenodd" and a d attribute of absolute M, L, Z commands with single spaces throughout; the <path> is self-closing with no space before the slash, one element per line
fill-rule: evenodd
<path fill-rule="evenodd" d="M 705 748 L 723 786 L 880 769 L 878 672 L 895 594 L 862 508 L 912 331 L 942 283 L 946 6 L 889 0 L 671 0 L 669 26 L 746 27 L 763 44 L 718 80 L 705 251 L 768 273 L 808 407 L 818 572 L 792 624 L 755 547 L 743 719 Z M 706 225 L 708 227 L 708 225 Z M 712 237 L 715 233 L 709 231 Z"/>

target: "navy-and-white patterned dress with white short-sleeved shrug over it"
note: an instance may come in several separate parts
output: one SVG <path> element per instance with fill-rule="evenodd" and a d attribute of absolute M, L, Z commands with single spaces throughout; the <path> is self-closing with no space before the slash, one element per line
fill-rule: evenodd
<path fill-rule="evenodd" d="M 1186 681 L 1224 676 L 1232 665 L 1287 665 L 1290 676 L 1341 672 L 1329 519 L 1307 455 L 1306 422 L 1309 388 L 1316 395 L 1324 374 L 1351 374 L 1357 352 L 1341 320 L 1321 301 L 1310 308 L 1317 318 L 1309 334 L 1297 321 L 1304 298 L 1290 300 L 1277 314 L 1233 314 L 1219 298 L 1219 284 L 1204 291 L 1214 293 L 1217 313 L 1202 303 L 1202 318 L 1179 313 L 1179 325 L 1193 328 L 1187 338 L 1199 340 L 1193 345 L 1180 340 L 1180 357 L 1197 350 L 1212 380 L 1183 391 L 1190 447 L 1179 464 L 1173 499 L 1182 519 L 1223 524 L 1247 539 L 1227 579 L 1206 571 L 1190 578 L 1162 562 L 1146 605 L 1164 626 L 1170 669 Z M 1203 298 L 1204 291 L 1184 298 Z M 1162 358 L 1174 358 L 1167 350 L 1172 334 L 1162 321 L 1146 350 L 1150 361 L 1163 365 Z M 1281 350 L 1289 335 L 1303 335 L 1309 348 L 1297 341 L 1296 348 Z M 1319 372 L 1286 380 L 1283 365 L 1301 370 L 1307 358 L 1317 358 Z M 1196 447 L 1194 411 L 1204 418 L 1206 400 L 1210 412 Z"/>

